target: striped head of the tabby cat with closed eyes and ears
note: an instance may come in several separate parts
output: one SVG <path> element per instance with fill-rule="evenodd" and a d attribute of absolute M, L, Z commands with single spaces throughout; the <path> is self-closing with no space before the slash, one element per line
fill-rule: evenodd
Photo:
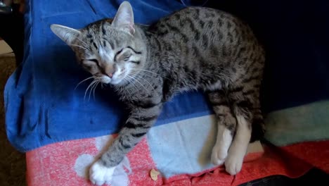
<path fill-rule="evenodd" d="M 145 65 L 146 45 L 135 32 L 134 14 L 127 1 L 112 22 L 101 20 L 81 30 L 51 25 L 51 30 L 71 46 L 80 65 L 105 84 L 124 85 Z"/>

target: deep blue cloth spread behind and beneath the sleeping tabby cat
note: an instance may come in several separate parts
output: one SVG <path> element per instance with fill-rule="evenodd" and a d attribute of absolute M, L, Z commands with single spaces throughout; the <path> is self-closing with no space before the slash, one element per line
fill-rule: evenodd
<path fill-rule="evenodd" d="M 150 24 L 191 0 L 130 1 L 136 23 Z M 183 3 L 182 3 L 183 2 Z M 206 1 L 195 1 L 202 5 Z M 216 1 L 236 13 L 267 51 L 264 110 L 280 110 L 329 98 L 328 1 Z M 20 151 L 45 144 L 117 132 L 123 105 L 111 89 L 84 92 L 89 75 L 75 63 L 69 46 L 53 35 L 51 24 L 81 28 L 115 15 L 122 0 L 30 0 L 25 13 L 25 58 L 6 84 L 8 140 Z M 200 92 L 179 94 L 164 106 L 155 125 L 212 113 Z"/>

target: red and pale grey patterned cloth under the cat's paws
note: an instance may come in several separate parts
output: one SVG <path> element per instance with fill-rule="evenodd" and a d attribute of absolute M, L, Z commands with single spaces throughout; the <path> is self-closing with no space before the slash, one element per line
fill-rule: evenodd
<path fill-rule="evenodd" d="M 152 128 L 116 168 L 112 185 L 240 185 L 269 175 L 296 178 L 314 166 L 329 173 L 329 142 L 324 141 L 264 149 L 259 148 L 260 143 L 255 143 L 248 148 L 242 171 L 236 176 L 228 175 L 223 166 L 213 167 L 205 163 L 213 142 L 209 139 L 203 142 L 198 138 L 195 141 L 186 139 L 177 127 L 185 126 L 183 130 L 186 131 L 191 128 L 189 125 L 194 124 L 174 123 L 171 127 L 168 124 Z M 170 134 L 170 128 L 178 130 L 180 135 L 175 138 L 178 133 Z M 191 130 L 195 128 L 198 126 Z M 212 128 L 208 129 L 205 134 L 216 133 L 212 132 Z M 201 130 L 195 131 L 200 133 Z M 58 142 L 27 152 L 28 185 L 92 185 L 88 180 L 88 167 L 115 136 Z M 173 138 L 175 143 L 169 138 Z M 198 142 L 207 142 L 209 147 Z M 193 148 L 189 148 L 191 145 Z M 204 165 L 198 166 L 202 162 Z M 150 177 L 152 169 L 160 173 L 157 180 Z"/>

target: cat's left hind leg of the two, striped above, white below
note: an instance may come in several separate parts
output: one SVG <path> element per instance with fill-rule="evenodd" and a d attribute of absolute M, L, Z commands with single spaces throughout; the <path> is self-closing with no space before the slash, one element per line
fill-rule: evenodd
<path fill-rule="evenodd" d="M 211 160 L 214 165 L 221 165 L 226 159 L 228 148 L 233 140 L 236 118 L 231 113 L 223 91 L 209 92 L 208 95 L 217 118 L 217 140 L 212 149 Z"/>

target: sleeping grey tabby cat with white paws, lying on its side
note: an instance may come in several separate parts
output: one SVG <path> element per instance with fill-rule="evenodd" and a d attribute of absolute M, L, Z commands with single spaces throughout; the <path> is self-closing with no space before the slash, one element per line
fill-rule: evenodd
<path fill-rule="evenodd" d="M 124 1 L 114 19 L 75 30 L 51 25 L 95 82 L 110 84 L 131 113 L 108 151 L 93 163 L 93 184 L 110 182 L 115 167 L 177 92 L 204 89 L 217 116 L 211 161 L 236 175 L 250 141 L 264 134 L 259 86 L 264 50 L 250 27 L 223 11 L 188 7 L 149 27 L 134 24 Z"/>

